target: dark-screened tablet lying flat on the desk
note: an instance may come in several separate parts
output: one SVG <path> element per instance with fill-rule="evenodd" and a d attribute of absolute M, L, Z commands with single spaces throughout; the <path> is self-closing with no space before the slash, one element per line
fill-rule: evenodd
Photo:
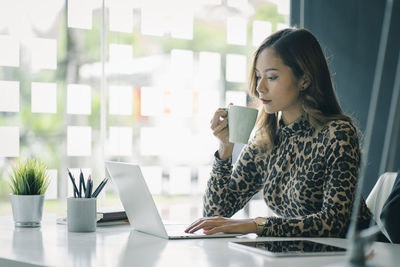
<path fill-rule="evenodd" d="M 326 256 L 346 253 L 344 248 L 308 240 L 229 242 L 229 247 L 275 257 Z"/>

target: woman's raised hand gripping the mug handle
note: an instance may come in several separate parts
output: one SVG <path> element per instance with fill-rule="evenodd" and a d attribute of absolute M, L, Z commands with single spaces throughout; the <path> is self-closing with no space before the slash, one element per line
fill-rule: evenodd
<path fill-rule="evenodd" d="M 211 130 L 219 140 L 219 158 L 222 160 L 230 158 L 232 156 L 233 143 L 229 142 L 228 110 L 226 108 L 219 108 L 214 113 L 211 119 Z"/>

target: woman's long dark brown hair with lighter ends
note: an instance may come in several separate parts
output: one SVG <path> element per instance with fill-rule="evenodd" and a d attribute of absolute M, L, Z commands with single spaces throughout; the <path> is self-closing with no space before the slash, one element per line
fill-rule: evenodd
<path fill-rule="evenodd" d="M 305 78 L 309 85 L 300 91 L 303 112 L 314 127 L 320 127 L 334 119 L 351 121 L 343 114 L 337 101 L 331 75 L 315 36 L 305 29 L 289 28 L 277 31 L 267 37 L 254 53 L 249 77 L 250 94 L 258 98 L 255 66 L 260 53 L 272 48 L 283 64 L 288 66 L 296 79 Z M 260 112 L 257 119 L 256 144 L 269 150 L 274 147 L 278 114 Z"/>

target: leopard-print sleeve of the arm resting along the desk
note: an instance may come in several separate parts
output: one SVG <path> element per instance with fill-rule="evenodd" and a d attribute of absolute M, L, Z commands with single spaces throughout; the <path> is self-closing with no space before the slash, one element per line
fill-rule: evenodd
<path fill-rule="evenodd" d="M 323 145 L 325 178 L 321 209 L 304 216 L 267 218 L 263 236 L 346 235 L 360 162 L 356 130 L 349 122 L 330 122 Z"/>

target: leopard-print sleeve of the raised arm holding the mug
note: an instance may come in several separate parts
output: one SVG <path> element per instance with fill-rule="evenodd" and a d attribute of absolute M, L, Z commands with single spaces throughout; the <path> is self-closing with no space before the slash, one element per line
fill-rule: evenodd
<path fill-rule="evenodd" d="M 220 160 L 215 154 L 203 196 L 203 216 L 231 217 L 261 189 L 264 164 L 256 162 L 259 153 L 251 143 L 246 145 L 234 168 L 231 159 Z"/>

